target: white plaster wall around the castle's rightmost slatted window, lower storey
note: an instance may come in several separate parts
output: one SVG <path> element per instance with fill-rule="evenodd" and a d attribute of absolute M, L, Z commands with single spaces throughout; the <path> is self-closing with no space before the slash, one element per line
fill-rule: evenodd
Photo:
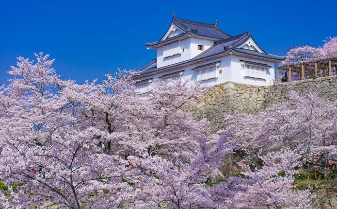
<path fill-rule="evenodd" d="M 273 62 L 268 62 L 265 60 L 259 60 L 254 58 L 247 58 L 247 57 L 240 57 L 237 55 L 231 55 L 231 81 L 241 83 L 241 84 L 248 84 L 248 85 L 257 85 L 257 86 L 269 86 L 273 85 L 273 80 L 275 76 L 275 68 Z M 262 64 L 267 64 L 272 66 L 270 69 L 267 70 L 266 79 L 255 79 L 250 77 L 243 77 L 243 66 L 240 63 L 240 60 L 247 60 L 251 62 L 257 62 Z"/>

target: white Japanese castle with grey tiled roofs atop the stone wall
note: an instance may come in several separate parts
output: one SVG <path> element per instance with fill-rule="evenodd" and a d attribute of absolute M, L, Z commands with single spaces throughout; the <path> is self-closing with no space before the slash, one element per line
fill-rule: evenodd
<path fill-rule="evenodd" d="M 194 22 L 173 15 L 171 25 L 159 41 L 146 43 L 157 50 L 157 59 L 134 76 L 141 92 L 151 83 L 180 79 L 212 86 L 226 81 L 273 85 L 274 64 L 285 59 L 263 51 L 250 31 L 228 35 L 214 24 Z"/>

